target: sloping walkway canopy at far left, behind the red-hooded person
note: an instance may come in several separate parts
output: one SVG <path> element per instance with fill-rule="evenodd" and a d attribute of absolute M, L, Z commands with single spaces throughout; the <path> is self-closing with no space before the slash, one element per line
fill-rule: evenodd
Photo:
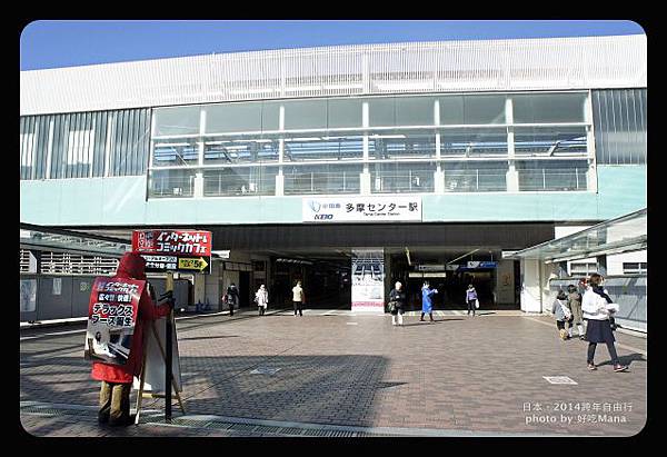
<path fill-rule="evenodd" d="M 120 238 L 52 229 L 32 223 L 21 223 L 19 231 L 20 249 L 106 257 L 122 257 L 126 251 L 132 249 L 131 241 Z"/>

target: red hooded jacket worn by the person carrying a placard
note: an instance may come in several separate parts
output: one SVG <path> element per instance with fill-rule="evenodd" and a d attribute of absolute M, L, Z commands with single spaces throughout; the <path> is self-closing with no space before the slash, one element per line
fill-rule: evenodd
<path fill-rule="evenodd" d="M 136 252 L 126 252 L 120 262 L 115 278 L 130 278 L 146 280 L 146 260 Z M 139 299 L 139 314 L 135 324 L 135 334 L 132 337 L 132 348 L 130 358 L 126 365 L 111 365 L 96 361 L 92 364 L 91 377 L 107 383 L 130 384 L 135 376 L 141 372 L 141 357 L 143 352 L 143 327 L 151 320 L 168 316 L 170 307 L 168 305 L 155 306 L 148 287 L 143 288 Z"/>

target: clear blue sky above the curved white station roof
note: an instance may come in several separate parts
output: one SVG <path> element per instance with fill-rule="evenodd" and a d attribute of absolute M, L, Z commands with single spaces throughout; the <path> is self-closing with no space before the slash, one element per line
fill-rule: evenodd
<path fill-rule="evenodd" d="M 638 23 L 616 20 L 48 20 L 23 29 L 20 69 L 334 44 L 638 33 Z"/>

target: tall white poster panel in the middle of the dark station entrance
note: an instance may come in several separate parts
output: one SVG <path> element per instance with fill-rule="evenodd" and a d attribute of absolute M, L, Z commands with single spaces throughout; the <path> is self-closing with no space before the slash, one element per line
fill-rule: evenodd
<path fill-rule="evenodd" d="M 352 311 L 385 312 L 384 249 L 352 249 Z"/>

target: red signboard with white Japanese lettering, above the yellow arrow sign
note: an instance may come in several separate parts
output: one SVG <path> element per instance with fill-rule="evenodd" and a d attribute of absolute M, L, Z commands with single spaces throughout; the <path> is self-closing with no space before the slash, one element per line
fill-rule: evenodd
<path fill-rule="evenodd" d="M 201 230 L 135 230 L 132 250 L 139 254 L 211 256 L 211 232 Z"/>

